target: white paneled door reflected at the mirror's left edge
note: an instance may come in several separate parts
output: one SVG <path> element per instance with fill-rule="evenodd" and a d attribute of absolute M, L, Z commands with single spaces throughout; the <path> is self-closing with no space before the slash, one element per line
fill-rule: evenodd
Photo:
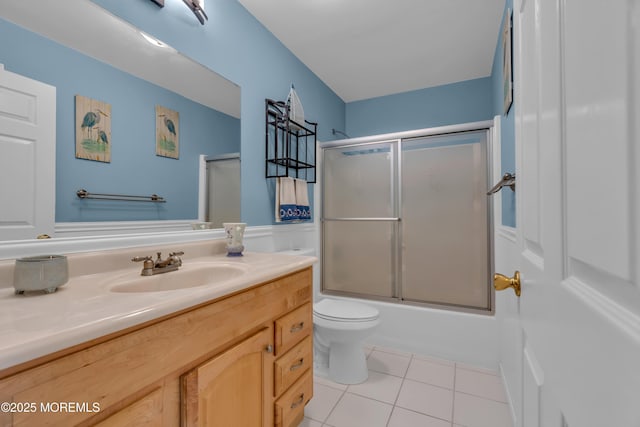
<path fill-rule="evenodd" d="M 56 89 L 0 64 L 0 240 L 53 236 Z"/>

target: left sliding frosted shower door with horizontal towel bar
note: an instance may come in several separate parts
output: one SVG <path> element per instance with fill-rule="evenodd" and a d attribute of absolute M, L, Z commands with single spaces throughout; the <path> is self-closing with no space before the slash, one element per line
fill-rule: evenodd
<path fill-rule="evenodd" d="M 326 291 L 396 295 L 397 143 L 324 150 Z"/>

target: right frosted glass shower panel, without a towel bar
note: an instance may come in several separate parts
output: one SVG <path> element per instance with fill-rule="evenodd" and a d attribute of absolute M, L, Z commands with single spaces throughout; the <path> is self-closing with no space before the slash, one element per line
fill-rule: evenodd
<path fill-rule="evenodd" d="M 490 308 L 486 159 L 484 134 L 403 142 L 404 299 Z"/>

